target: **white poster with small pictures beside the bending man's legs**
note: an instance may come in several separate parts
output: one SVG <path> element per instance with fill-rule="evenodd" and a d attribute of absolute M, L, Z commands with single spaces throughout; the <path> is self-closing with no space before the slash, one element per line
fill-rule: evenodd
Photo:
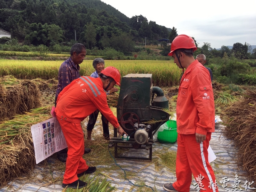
<path fill-rule="evenodd" d="M 55 152 L 67 148 L 67 143 L 56 117 L 31 126 L 36 164 Z"/>

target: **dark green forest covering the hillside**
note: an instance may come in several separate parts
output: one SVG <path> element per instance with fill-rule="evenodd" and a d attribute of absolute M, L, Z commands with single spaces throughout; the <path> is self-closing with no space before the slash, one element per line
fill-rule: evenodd
<path fill-rule="evenodd" d="M 122 40 L 131 51 L 135 43 L 158 44 L 171 29 L 142 15 L 132 18 L 100 0 L 0 0 L 0 29 L 27 45 L 47 47 L 77 40 L 104 49 Z"/>

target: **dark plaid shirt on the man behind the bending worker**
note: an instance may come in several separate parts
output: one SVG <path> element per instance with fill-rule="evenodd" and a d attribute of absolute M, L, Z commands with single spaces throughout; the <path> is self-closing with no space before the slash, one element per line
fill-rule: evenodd
<path fill-rule="evenodd" d="M 70 84 L 73 80 L 80 77 L 79 70 L 80 66 L 77 65 L 76 68 L 76 64 L 74 64 L 71 57 L 61 64 L 61 67 L 58 71 L 58 87 L 55 96 L 56 99 L 64 87 Z"/>

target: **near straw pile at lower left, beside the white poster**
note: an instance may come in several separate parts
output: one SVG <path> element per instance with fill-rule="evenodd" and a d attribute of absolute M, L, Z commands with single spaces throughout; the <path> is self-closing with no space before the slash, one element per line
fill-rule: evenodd
<path fill-rule="evenodd" d="M 51 118 L 50 110 L 38 108 L 0 124 L 0 185 L 35 167 L 31 126 Z"/>

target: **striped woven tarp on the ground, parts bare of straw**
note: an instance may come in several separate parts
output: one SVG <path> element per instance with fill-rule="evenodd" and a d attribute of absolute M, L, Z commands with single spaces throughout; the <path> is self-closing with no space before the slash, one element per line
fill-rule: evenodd
<path fill-rule="evenodd" d="M 212 150 L 214 151 L 216 155 L 216 160 L 214 160 L 211 165 L 212 168 L 215 171 L 215 177 L 217 180 L 217 186 L 219 189 L 219 192 L 224 191 L 235 191 L 235 187 L 237 186 L 237 183 L 239 184 L 239 187 L 242 189 L 242 191 L 248 191 L 245 183 L 246 180 L 248 180 L 245 177 L 245 173 L 241 172 L 237 168 L 236 161 L 233 159 L 235 155 L 236 149 L 232 145 L 232 142 L 230 140 L 226 140 L 222 133 L 221 125 L 216 127 L 215 133 L 212 133 L 212 139 L 210 141 L 210 146 L 212 147 Z M 157 158 L 154 156 L 154 151 L 161 151 L 163 153 L 166 153 L 166 148 L 168 150 L 177 150 L 177 143 L 175 144 L 163 144 L 155 141 L 153 144 L 153 158 Z M 130 150 L 136 150 L 136 149 L 130 149 Z M 114 154 L 112 154 L 114 155 Z M 48 161 L 51 161 L 51 158 L 49 157 Z M 108 178 L 108 181 L 111 182 L 111 186 L 115 186 L 116 192 L 123 192 L 125 189 L 125 192 L 131 191 L 136 192 L 138 188 L 134 186 L 133 184 L 137 182 L 143 181 L 145 185 L 150 186 L 156 190 L 157 192 L 164 192 L 163 184 L 174 182 L 176 180 L 175 173 L 172 173 L 169 171 L 169 169 L 163 167 L 162 169 L 155 169 L 155 165 L 152 162 L 146 162 L 143 160 L 125 160 L 125 159 L 117 159 L 116 163 L 122 167 L 125 171 L 132 171 L 136 174 L 134 177 L 129 177 L 129 180 L 120 179 L 120 172 L 122 172 L 121 169 L 118 170 L 118 173 L 116 170 L 105 172 L 106 175 L 112 178 Z M 97 168 L 102 168 L 102 166 L 97 166 Z M 37 183 L 28 183 L 24 182 L 24 180 L 14 180 L 9 183 L 9 186 L 5 186 L 4 188 L 0 189 L 0 192 L 4 191 L 19 191 L 19 192 L 61 192 L 63 188 L 61 187 L 61 183 L 55 184 L 55 185 L 48 185 L 46 186 L 46 183 L 40 182 L 41 177 L 43 177 L 42 173 L 46 172 L 44 170 L 44 167 L 36 166 L 36 168 L 33 170 L 33 174 L 35 177 L 38 178 Z M 60 175 L 63 175 L 64 172 L 57 173 L 53 172 L 51 173 L 52 177 L 57 177 Z M 93 174 L 91 174 L 93 176 Z M 227 182 L 227 186 L 224 188 L 224 185 L 222 186 L 221 181 L 224 180 L 224 177 L 226 177 L 229 182 Z M 248 182 L 252 183 L 252 181 Z M 196 184 L 195 179 L 192 180 L 192 183 Z M 248 185 L 249 183 L 247 183 Z M 139 184 L 140 185 L 140 184 Z M 253 184 L 250 187 L 256 187 L 255 184 Z M 191 184 L 190 191 L 197 191 L 197 189 L 194 189 L 195 186 Z M 131 190 L 132 189 L 132 190 Z M 152 190 L 153 191 L 153 190 Z M 251 190 L 249 190 L 251 191 Z"/>

